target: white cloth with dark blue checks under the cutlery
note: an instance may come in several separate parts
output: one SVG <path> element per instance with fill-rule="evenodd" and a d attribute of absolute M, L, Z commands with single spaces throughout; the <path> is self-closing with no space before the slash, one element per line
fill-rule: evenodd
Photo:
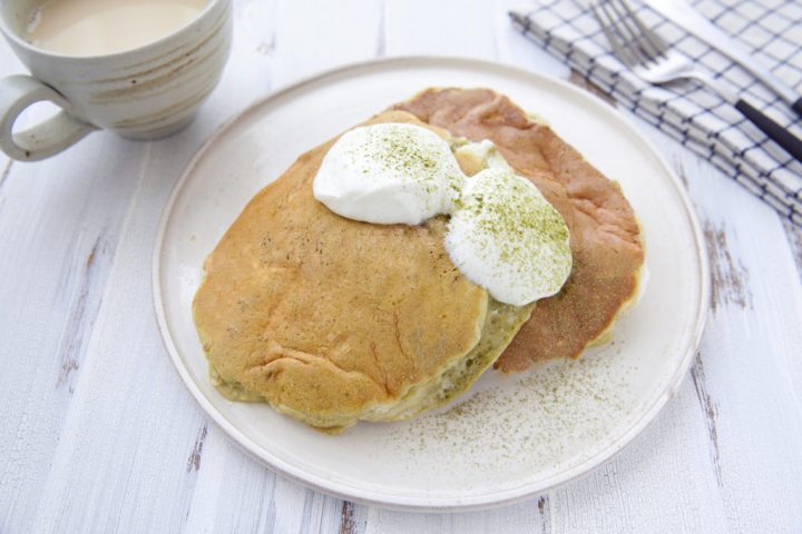
<path fill-rule="evenodd" d="M 707 19 L 753 50 L 753 58 L 802 95 L 800 0 L 691 0 Z M 802 119 L 770 89 L 706 43 L 632 0 L 638 17 L 701 68 L 802 138 Z M 734 107 L 688 81 L 655 87 L 612 53 L 585 0 L 535 0 L 510 12 L 525 36 L 589 82 L 710 160 L 728 177 L 802 225 L 802 164 Z"/>

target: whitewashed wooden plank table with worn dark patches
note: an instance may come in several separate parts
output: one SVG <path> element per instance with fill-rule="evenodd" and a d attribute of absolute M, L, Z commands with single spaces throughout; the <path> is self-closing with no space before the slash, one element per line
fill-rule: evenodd
<path fill-rule="evenodd" d="M 0 533 L 802 532 L 802 230 L 645 123 L 687 182 L 713 271 L 688 378 L 586 478 L 486 512 L 410 514 L 287 482 L 211 424 L 162 345 L 150 253 L 188 158 L 232 113 L 321 69 L 457 55 L 568 78 L 515 0 L 238 0 L 224 79 L 184 132 L 100 132 L 0 160 Z M 0 46 L 0 75 L 23 71 Z"/>

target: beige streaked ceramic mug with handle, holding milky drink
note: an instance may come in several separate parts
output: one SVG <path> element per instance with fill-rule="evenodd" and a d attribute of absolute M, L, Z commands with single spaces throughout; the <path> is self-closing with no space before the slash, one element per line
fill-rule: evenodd
<path fill-rule="evenodd" d="M 209 0 L 189 24 L 158 41 L 100 56 L 69 56 L 27 42 L 28 21 L 42 0 L 3 0 L 0 30 L 31 76 L 0 80 L 0 148 L 35 161 L 104 128 L 131 139 L 157 139 L 186 127 L 217 85 L 228 59 L 231 0 Z M 21 132 L 20 113 L 47 100 L 62 111 Z"/>

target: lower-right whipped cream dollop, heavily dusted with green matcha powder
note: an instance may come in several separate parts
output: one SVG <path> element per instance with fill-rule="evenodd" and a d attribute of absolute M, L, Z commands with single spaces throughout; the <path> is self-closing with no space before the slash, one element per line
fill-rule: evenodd
<path fill-rule="evenodd" d="M 501 168 L 467 179 L 446 248 L 471 281 L 514 306 L 556 294 L 571 270 L 563 217 L 529 180 Z"/>

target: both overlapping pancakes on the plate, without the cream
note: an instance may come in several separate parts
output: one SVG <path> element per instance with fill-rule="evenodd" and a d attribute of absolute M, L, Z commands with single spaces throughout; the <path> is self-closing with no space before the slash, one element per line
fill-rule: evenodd
<path fill-rule="evenodd" d="M 554 297 L 501 304 L 451 263 L 446 217 L 413 227 L 333 214 L 312 196 L 332 140 L 262 189 L 206 260 L 194 315 L 222 393 L 339 432 L 440 406 L 493 364 L 524 370 L 609 337 L 644 263 L 615 182 L 488 89 L 429 89 L 369 122 L 491 140 L 570 228 L 570 277 Z M 460 165 L 467 174 L 480 167 Z"/>

